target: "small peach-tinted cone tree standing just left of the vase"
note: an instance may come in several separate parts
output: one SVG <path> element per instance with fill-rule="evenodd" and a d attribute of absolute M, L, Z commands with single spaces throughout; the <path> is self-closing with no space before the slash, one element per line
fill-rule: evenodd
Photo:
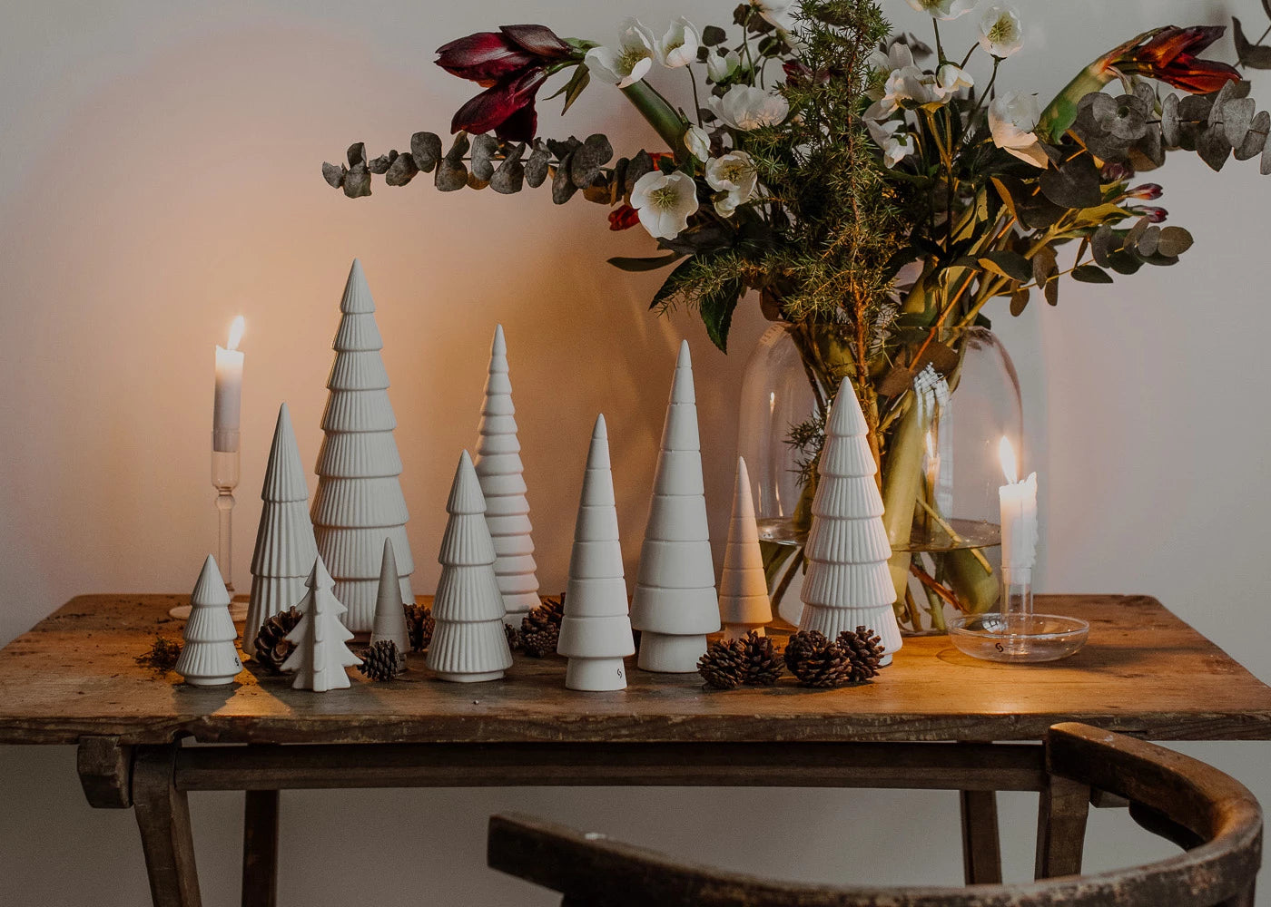
<path fill-rule="evenodd" d="M 773 620 L 773 603 L 764 577 L 764 553 L 759 548 L 759 526 L 755 523 L 755 501 L 750 495 L 750 474 L 741 457 L 737 457 L 728 544 L 723 549 L 723 569 L 719 572 L 719 620 L 724 639 L 741 639 L 751 630 L 763 636 L 764 625 Z"/>

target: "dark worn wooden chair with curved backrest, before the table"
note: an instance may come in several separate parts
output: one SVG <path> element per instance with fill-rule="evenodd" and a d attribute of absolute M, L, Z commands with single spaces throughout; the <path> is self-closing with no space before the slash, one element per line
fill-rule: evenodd
<path fill-rule="evenodd" d="M 1051 790 L 1082 802 L 1079 812 L 1051 809 L 1043 794 L 1041 875 L 1047 849 L 1075 846 L 1080 865 L 1092 791 L 1129 800 L 1139 824 L 1185 852 L 1144 866 L 1030 884 L 839 888 L 724 873 L 600 835 L 494 816 L 487 859 L 493 869 L 561 892 L 563 907 L 1252 907 L 1262 810 L 1242 784 L 1171 749 L 1084 724 L 1050 729 L 1046 763 L 1052 779 L 1064 779 Z"/>

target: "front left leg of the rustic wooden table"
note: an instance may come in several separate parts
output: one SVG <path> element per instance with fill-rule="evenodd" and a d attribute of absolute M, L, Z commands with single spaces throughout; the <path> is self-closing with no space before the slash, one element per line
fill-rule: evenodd
<path fill-rule="evenodd" d="M 201 904 L 189 803 L 174 783 L 178 748 L 139 747 L 132 767 L 132 804 L 154 907 Z"/>

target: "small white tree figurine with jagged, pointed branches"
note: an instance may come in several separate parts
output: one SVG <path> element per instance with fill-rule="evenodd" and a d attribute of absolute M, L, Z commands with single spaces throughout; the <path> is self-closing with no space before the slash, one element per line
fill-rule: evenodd
<path fill-rule="evenodd" d="M 348 686 L 344 668 L 361 664 L 362 659 L 344 645 L 353 634 L 341 620 L 346 608 L 332 592 L 336 582 L 322 558 L 314 561 L 305 586 L 309 591 L 300 601 L 300 622 L 286 636 L 295 648 L 282 669 L 296 673 L 291 685 L 296 690 L 342 690 Z"/>

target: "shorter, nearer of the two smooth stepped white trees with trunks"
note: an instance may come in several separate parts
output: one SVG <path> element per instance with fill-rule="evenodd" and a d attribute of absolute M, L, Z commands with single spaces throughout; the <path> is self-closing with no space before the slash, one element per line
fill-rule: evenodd
<path fill-rule="evenodd" d="M 569 659 L 564 675 L 569 690 L 627 687 L 623 658 L 636 654 L 636 642 L 627 612 L 627 581 L 604 415 L 596 417 L 582 476 L 557 653 Z"/>

